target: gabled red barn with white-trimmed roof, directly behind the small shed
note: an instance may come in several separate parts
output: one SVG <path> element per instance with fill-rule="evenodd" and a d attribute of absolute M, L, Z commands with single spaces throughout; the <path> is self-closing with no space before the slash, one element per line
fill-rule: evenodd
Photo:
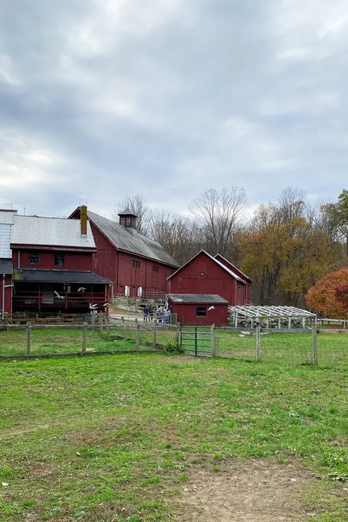
<path fill-rule="evenodd" d="M 218 294 L 231 306 L 245 303 L 246 280 L 204 250 L 168 279 L 170 293 Z"/>

